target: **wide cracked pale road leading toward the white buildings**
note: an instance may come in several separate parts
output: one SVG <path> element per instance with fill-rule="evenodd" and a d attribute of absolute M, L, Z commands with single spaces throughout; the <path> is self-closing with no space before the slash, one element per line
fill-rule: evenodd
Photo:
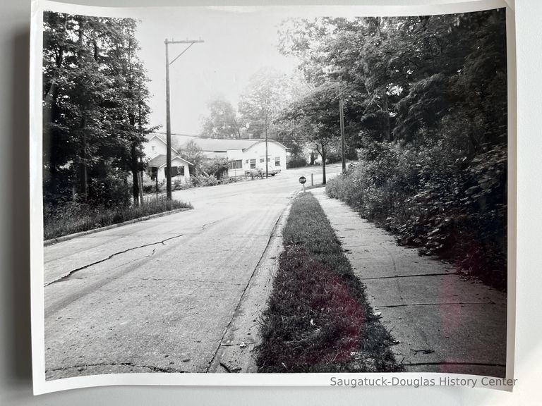
<path fill-rule="evenodd" d="M 299 176 L 310 183 L 311 171 L 320 183 L 317 167 L 174 192 L 195 209 L 45 247 L 46 378 L 208 371 Z"/>

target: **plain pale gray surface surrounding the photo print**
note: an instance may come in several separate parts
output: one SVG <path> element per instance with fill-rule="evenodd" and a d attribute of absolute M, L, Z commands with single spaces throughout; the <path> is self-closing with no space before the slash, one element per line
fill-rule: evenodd
<path fill-rule="evenodd" d="M 66 0 L 68 1 L 68 0 Z M 69 0 L 95 6 L 266 4 L 263 0 Z M 439 4 L 380 0 L 380 4 Z M 270 2 L 267 2 L 269 4 Z M 371 4 L 278 1 L 274 4 Z M 375 1 L 373 1 L 375 3 Z M 469 388 L 109 387 L 32 396 L 28 260 L 28 55 L 30 0 L 0 0 L 0 405 L 534 405 L 542 376 L 542 36 L 540 0 L 517 0 L 517 386 Z"/>

